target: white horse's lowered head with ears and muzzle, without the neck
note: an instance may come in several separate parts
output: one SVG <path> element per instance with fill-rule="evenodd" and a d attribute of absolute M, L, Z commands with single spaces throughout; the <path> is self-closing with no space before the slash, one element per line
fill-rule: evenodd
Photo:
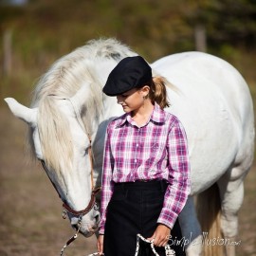
<path fill-rule="evenodd" d="M 94 171 L 93 165 L 95 134 L 91 132 L 91 124 L 84 125 L 80 116 L 82 111 L 87 111 L 82 100 L 90 97 L 89 91 L 84 85 L 69 99 L 48 95 L 46 102 L 51 103 L 35 108 L 12 98 L 5 99 L 13 115 L 27 122 L 34 154 L 63 200 L 64 215 L 68 215 L 72 227 L 80 229 L 84 236 L 93 234 L 100 221 L 95 202 L 99 192 L 96 186 L 100 182 L 99 172 Z M 46 111 L 46 105 L 51 109 Z M 52 119 L 44 117 L 50 114 Z"/>

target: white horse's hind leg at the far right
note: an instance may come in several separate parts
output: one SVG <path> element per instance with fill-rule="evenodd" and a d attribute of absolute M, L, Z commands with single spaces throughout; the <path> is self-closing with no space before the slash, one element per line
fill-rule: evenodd
<path fill-rule="evenodd" d="M 224 235 L 223 244 L 227 256 L 235 256 L 236 236 L 238 232 L 238 210 L 244 199 L 244 177 L 232 179 L 231 174 L 237 172 L 235 168 L 218 181 L 221 197 L 221 230 Z"/>

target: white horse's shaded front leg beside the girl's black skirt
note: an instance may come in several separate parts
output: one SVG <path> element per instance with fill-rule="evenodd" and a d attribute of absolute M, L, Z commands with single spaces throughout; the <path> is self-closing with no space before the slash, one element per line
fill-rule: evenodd
<path fill-rule="evenodd" d="M 179 224 L 187 256 L 199 256 L 202 252 L 202 232 L 196 217 L 193 198 L 190 196 L 181 211 Z"/>

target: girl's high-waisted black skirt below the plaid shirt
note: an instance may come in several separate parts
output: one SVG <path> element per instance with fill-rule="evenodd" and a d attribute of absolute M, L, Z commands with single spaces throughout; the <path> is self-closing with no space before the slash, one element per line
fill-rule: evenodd
<path fill-rule="evenodd" d="M 137 233 L 151 237 L 157 227 L 157 219 L 163 207 L 167 189 L 165 181 L 136 181 L 116 183 L 108 204 L 104 245 L 105 256 L 134 256 Z M 178 220 L 172 229 L 176 240 L 182 239 Z M 154 255 L 150 245 L 140 241 L 139 256 Z M 173 247 L 177 256 L 186 255 L 183 247 Z M 164 247 L 155 247 L 160 256 L 165 255 Z"/>

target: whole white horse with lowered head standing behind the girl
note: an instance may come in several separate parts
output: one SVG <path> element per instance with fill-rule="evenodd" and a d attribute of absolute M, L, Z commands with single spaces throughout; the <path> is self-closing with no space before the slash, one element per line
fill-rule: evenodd
<path fill-rule="evenodd" d="M 99 210 L 93 208 L 92 190 L 101 185 L 106 125 L 122 114 L 116 99 L 106 97 L 101 88 L 122 58 L 135 55 L 114 39 L 91 41 L 50 67 L 37 84 L 30 108 L 6 99 L 11 112 L 29 125 L 34 155 L 43 161 L 68 208 L 71 225 L 76 229 L 79 225 L 85 236 L 97 230 L 100 218 Z M 237 235 L 243 181 L 253 160 L 251 97 L 237 70 L 209 54 L 174 54 L 156 61 L 152 67 L 154 75 L 168 81 L 172 106 L 166 110 L 181 119 L 187 131 L 192 193 L 179 221 L 187 255 L 200 255 L 206 234 L 202 232 L 209 230 L 200 228 L 192 196 L 213 184 L 218 187 L 221 231 L 228 242 L 234 242 Z M 206 213 L 205 221 L 210 217 L 207 210 L 212 209 L 213 197 L 207 201 L 211 208 L 203 205 L 201 210 Z M 214 215 L 211 224 L 216 220 Z M 216 244 L 218 238 L 212 241 Z M 213 247 L 213 242 L 208 247 Z M 228 242 L 226 253 L 233 256 L 235 249 Z"/>

